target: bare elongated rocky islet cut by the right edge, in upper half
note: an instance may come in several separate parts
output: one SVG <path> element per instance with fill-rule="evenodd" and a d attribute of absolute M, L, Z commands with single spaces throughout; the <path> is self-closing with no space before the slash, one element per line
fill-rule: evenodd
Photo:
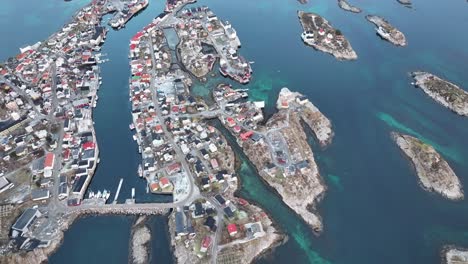
<path fill-rule="evenodd" d="M 453 112 L 468 116 L 468 93 L 457 85 L 428 72 L 412 72 L 414 85 L 439 104 Z"/>

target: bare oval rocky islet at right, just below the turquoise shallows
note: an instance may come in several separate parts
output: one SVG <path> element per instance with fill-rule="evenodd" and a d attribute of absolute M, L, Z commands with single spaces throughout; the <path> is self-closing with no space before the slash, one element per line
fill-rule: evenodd
<path fill-rule="evenodd" d="M 447 161 L 421 140 L 392 132 L 392 138 L 413 163 L 421 186 L 450 200 L 464 198 L 462 185 Z"/>

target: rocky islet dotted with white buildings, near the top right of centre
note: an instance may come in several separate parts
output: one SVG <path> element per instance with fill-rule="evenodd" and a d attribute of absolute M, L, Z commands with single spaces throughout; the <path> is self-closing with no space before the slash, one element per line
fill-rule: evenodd
<path fill-rule="evenodd" d="M 298 11 L 303 33 L 302 40 L 316 50 L 333 55 L 339 60 L 355 60 L 357 54 L 340 30 L 335 29 L 323 17 Z"/>

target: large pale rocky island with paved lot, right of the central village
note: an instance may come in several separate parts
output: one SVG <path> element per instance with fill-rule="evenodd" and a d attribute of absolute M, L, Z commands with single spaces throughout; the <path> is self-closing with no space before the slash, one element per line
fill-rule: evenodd
<path fill-rule="evenodd" d="M 238 138 L 262 179 L 320 233 L 322 222 L 314 211 L 326 186 L 301 122 L 310 126 L 322 146 L 333 137 L 331 122 L 307 98 L 287 88 L 281 89 L 277 108 L 265 125 L 259 123 L 263 119 L 261 110 L 251 102 L 226 111 L 222 121 Z"/>

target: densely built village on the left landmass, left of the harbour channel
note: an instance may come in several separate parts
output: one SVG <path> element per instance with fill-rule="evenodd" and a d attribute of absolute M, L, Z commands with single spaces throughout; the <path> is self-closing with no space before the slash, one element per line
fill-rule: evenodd
<path fill-rule="evenodd" d="M 130 17 L 146 6 L 125 2 Z M 46 41 L 0 64 L 1 252 L 48 247 L 68 208 L 86 201 L 99 163 L 92 112 L 106 61 L 101 23 L 120 4 L 93 1 Z M 88 204 L 109 196 L 99 191 Z"/>

